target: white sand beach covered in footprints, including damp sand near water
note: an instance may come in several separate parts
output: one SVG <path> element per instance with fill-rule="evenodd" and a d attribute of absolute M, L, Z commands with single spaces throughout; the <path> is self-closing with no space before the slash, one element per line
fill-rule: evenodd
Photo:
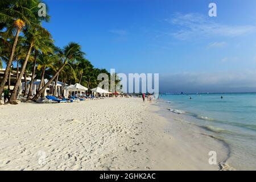
<path fill-rule="evenodd" d="M 139 98 L 0 106 L 1 170 L 218 170 L 224 144 Z M 214 146 L 214 147 L 213 147 Z"/>

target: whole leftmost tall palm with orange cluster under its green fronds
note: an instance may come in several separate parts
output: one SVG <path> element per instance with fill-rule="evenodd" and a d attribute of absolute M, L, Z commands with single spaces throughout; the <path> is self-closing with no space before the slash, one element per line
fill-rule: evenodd
<path fill-rule="evenodd" d="M 5 86 L 7 76 L 10 71 L 10 66 L 13 61 L 14 52 L 16 45 L 18 43 L 18 38 L 20 32 L 25 26 L 31 26 L 38 24 L 39 20 L 49 20 L 49 16 L 38 16 L 38 10 L 36 7 L 41 1 L 24 1 L 24 0 L 10 0 L 10 1 L 1 1 L 0 2 L 0 23 L 1 28 L 7 27 L 7 30 L 15 31 L 14 43 L 11 48 L 9 60 L 6 65 L 5 75 L 0 84 L 0 94 L 3 91 L 3 86 Z M 1 97 L 0 97 L 1 100 Z M 1 104 L 1 102 L 0 102 Z"/>

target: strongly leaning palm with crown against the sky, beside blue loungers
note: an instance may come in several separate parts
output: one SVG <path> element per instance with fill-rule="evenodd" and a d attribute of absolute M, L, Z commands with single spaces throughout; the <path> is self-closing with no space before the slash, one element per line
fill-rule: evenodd
<path fill-rule="evenodd" d="M 81 46 L 77 43 L 69 43 L 68 46 L 64 47 L 64 60 L 63 65 L 59 68 L 59 70 L 55 73 L 55 75 L 52 76 L 52 78 L 47 82 L 46 85 L 43 86 L 42 89 L 36 93 L 36 95 L 32 98 L 32 101 L 38 100 L 39 96 L 44 92 L 44 90 L 51 84 L 51 82 L 56 78 L 56 76 L 63 70 L 63 68 L 70 64 L 75 63 L 78 60 L 81 60 L 84 58 L 85 53 L 81 51 Z"/>

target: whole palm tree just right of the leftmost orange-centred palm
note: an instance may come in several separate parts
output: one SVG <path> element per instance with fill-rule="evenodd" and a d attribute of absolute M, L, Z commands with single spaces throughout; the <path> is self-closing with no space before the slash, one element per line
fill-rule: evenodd
<path fill-rule="evenodd" d="M 24 32 L 25 32 L 25 35 L 26 35 L 27 41 L 28 41 L 28 51 L 27 51 L 26 59 L 24 60 L 24 63 L 22 65 L 22 69 L 20 71 L 18 80 L 16 81 L 13 92 L 11 93 L 10 104 L 17 104 L 16 93 L 18 91 L 20 81 L 22 80 L 22 76 L 26 69 L 27 61 L 30 58 L 32 48 L 35 47 L 35 45 L 38 45 L 40 43 L 40 41 L 41 41 L 42 37 L 44 37 L 44 35 L 51 36 L 45 28 L 43 28 L 39 25 L 33 26 L 31 28 L 27 28 L 27 30 Z"/>

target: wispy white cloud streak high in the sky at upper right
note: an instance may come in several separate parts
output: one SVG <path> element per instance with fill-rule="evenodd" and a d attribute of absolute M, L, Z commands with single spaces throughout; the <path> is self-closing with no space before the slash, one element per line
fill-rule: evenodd
<path fill-rule="evenodd" d="M 185 40 L 200 38 L 202 36 L 240 36 L 256 31 L 255 26 L 230 26 L 214 22 L 208 16 L 201 14 L 175 14 L 174 18 L 166 19 L 167 22 L 180 27 L 180 30 L 172 33 L 177 39 Z"/>

